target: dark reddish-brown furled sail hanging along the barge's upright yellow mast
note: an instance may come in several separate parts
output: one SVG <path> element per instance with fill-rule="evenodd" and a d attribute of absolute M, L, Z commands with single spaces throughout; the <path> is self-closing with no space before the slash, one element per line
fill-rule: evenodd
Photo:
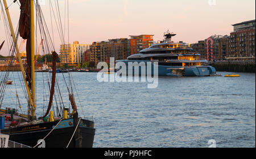
<path fill-rule="evenodd" d="M 19 17 L 19 35 L 23 39 L 27 39 L 27 69 L 26 80 L 28 87 L 31 89 L 31 35 L 30 35 L 30 0 L 19 0 L 20 17 Z"/>

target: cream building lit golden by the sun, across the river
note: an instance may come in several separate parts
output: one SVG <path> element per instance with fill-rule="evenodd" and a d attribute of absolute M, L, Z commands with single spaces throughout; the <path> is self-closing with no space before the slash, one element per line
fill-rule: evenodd
<path fill-rule="evenodd" d="M 79 44 L 74 41 L 73 44 L 60 45 L 60 62 L 66 64 L 82 63 L 83 53 L 90 48 L 89 44 Z"/>

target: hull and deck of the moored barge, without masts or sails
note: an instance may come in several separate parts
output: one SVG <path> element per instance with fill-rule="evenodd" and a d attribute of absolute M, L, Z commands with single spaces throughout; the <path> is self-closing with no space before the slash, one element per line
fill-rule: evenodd
<path fill-rule="evenodd" d="M 9 135 L 9 140 L 16 143 L 46 148 L 66 148 L 67 146 L 91 148 L 93 146 L 94 123 L 77 118 L 77 114 L 73 118 L 54 118 L 53 122 L 48 122 L 49 119 L 45 118 L 29 123 L 26 115 L 18 114 L 10 108 L 1 109 L 0 115 L 5 116 L 5 129 L 2 129 L 1 133 Z"/>

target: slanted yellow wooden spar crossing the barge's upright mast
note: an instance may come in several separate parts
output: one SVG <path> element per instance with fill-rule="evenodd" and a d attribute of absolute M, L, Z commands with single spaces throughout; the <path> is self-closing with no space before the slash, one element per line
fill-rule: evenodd
<path fill-rule="evenodd" d="M 24 71 L 24 67 L 23 67 L 23 64 L 22 64 L 21 57 L 20 57 L 19 48 L 18 48 L 18 45 L 17 45 L 17 41 L 16 41 L 16 38 L 15 38 L 14 29 L 13 29 L 13 23 L 11 22 L 11 17 L 10 17 L 10 13 L 9 13 L 9 10 L 8 10 L 6 0 L 3 0 L 3 4 L 5 5 L 5 11 L 6 11 L 7 19 L 8 19 L 8 22 L 9 22 L 10 30 L 11 30 L 11 36 L 13 37 L 13 41 L 14 41 L 14 45 L 15 45 L 15 49 L 16 49 L 16 54 L 17 54 L 18 59 L 19 59 L 20 69 L 22 71 L 23 80 L 24 80 L 26 90 L 27 90 L 27 95 L 28 95 L 28 99 L 29 99 L 28 104 L 30 104 L 30 107 L 28 107 L 28 119 L 29 119 L 29 117 L 31 116 L 31 114 L 30 114 L 31 113 L 31 108 L 34 107 L 34 95 L 31 94 L 30 88 L 28 87 L 28 83 L 27 83 L 27 80 L 26 80 L 26 74 L 25 74 L 25 71 Z M 34 18 L 34 16 L 33 16 L 33 18 Z M 34 22 L 34 19 L 33 19 L 33 22 Z M 33 26 L 33 28 L 34 28 L 34 26 Z M 34 33 L 34 31 L 33 31 L 33 33 Z M 33 43 L 34 43 L 34 41 L 33 41 Z M 33 62 L 33 64 L 34 64 L 34 62 Z"/>

